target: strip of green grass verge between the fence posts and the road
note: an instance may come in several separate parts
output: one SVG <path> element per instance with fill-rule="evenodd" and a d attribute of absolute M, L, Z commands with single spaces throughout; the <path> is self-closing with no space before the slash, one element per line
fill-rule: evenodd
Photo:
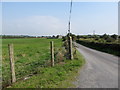
<path fill-rule="evenodd" d="M 18 81 L 10 88 L 71 88 L 74 76 L 85 63 L 80 53 L 76 52 L 76 59 L 65 60 L 54 67 L 39 68 L 38 74 L 28 80 Z"/>

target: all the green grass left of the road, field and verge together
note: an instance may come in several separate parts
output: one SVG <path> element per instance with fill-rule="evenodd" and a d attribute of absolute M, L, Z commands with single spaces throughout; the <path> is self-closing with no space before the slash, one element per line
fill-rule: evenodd
<path fill-rule="evenodd" d="M 9 43 L 14 44 L 15 73 L 17 78 L 17 82 L 12 85 L 12 88 L 70 87 L 70 81 L 84 64 L 84 58 L 77 52 L 74 60 L 65 60 L 62 63 L 56 63 L 55 67 L 49 67 L 50 41 L 54 41 L 55 53 L 60 52 L 60 48 L 63 46 L 62 39 L 3 39 L 3 87 L 10 85 Z M 33 76 L 28 80 L 22 79 L 28 75 Z"/>

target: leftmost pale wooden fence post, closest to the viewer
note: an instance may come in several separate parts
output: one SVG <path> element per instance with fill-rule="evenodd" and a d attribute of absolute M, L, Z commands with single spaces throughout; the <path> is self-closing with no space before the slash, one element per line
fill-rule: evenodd
<path fill-rule="evenodd" d="M 8 44 L 8 49 L 9 49 L 9 59 L 10 59 L 11 82 L 14 83 L 14 82 L 16 82 L 16 77 L 15 77 L 15 68 L 14 68 L 13 44 Z"/>

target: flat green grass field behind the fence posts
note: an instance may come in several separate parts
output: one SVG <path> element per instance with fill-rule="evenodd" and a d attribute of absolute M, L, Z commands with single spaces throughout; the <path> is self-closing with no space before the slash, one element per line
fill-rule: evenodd
<path fill-rule="evenodd" d="M 2 79 L 3 87 L 10 85 L 10 64 L 8 44 L 14 44 L 15 73 L 17 80 L 37 73 L 37 69 L 50 60 L 50 41 L 55 49 L 62 46 L 61 39 L 3 39 L 2 40 Z"/>

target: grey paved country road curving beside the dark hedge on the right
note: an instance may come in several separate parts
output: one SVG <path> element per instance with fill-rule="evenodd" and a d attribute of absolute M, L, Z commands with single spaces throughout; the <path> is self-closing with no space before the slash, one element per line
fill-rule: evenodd
<path fill-rule="evenodd" d="M 77 88 L 118 88 L 118 57 L 74 43 L 86 64 L 80 69 Z"/>

